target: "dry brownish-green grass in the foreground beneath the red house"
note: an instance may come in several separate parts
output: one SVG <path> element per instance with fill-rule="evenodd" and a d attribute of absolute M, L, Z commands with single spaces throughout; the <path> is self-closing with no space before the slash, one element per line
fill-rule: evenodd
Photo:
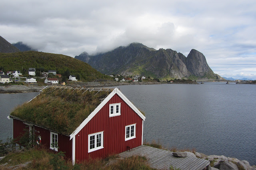
<path fill-rule="evenodd" d="M 90 159 L 72 166 L 71 160 L 64 160 L 60 154 L 53 154 L 44 149 L 31 149 L 18 153 L 9 153 L 0 164 L 8 163 L 6 166 L 0 166 L 0 169 L 8 169 L 8 166 L 31 161 L 27 167 L 18 169 L 78 169 L 78 170 L 153 170 L 150 168 L 145 157 L 132 156 L 125 159 L 116 159 L 118 156 L 113 155 L 105 159 Z"/>

